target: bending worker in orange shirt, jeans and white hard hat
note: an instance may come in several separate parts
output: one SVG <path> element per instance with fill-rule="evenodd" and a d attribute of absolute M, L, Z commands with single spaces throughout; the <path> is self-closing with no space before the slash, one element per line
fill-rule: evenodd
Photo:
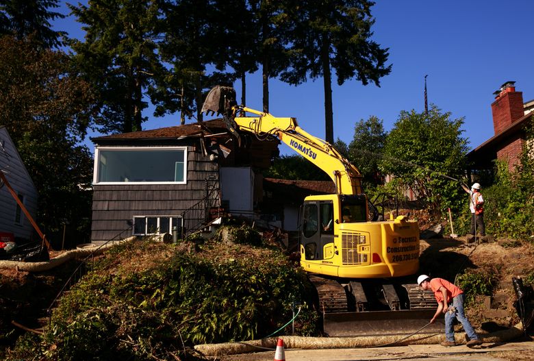
<path fill-rule="evenodd" d="M 437 301 L 437 310 L 430 320 L 430 323 L 434 323 L 437 316 L 440 316 L 440 314 L 445 314 L 446 340 L 442 342 L 441 345 L 456 346 L 454 329 L 455 319 L 460 321 L 463 329 L 466 331 L 469 338 L 467 343 L 468 347 L 482 345 L 482 341 L 474 332 L 471 323 L 463 312 L 464 295 L 463 291 L 458 288 L 458 286 L 455 286 L 455 284 L 452 284 L 443 278 L 430 279 L 427 275 L 420 275 L 417 279 L 417 283 L 423 290 L 432 290 Z"/>

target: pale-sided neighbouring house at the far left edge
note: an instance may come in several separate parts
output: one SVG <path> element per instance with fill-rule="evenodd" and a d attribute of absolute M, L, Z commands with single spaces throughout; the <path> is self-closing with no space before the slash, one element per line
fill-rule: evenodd
<path fill-rule="evenodd" d="M 31 181 L 31 177 L 23 164 L 21 155 L 15 148 L 14 142 L 8 134 L 8 129 L 0 125 L 0 171 L 3 172 L 9 184 L 21 199 L 29 214 L 35 219 L 37 213 L 38 193 Z M 5 234 L 12 234 L 14 238 L 30 240 L 34 227 L 26 218 L 22 209 L 13 199 L 8 187 L 0 180 L 0 236 L 5 240 Z"/>

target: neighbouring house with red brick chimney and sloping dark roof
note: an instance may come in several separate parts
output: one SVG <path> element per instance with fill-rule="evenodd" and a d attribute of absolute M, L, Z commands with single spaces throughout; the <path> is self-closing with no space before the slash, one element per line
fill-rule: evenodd
<path fill-rule="evenodd" d="M 523 103 L 523 93 L 516 92 L 514 84 L 506 82 L 494 92 L 492 115 L 495 135 L 468 153 L 472 169 L 493 169 L 497 159 L 508 162 L 509 170 L 513 171 L 520 162 L 526 129 L 533 123 L 534 101 Z"/>

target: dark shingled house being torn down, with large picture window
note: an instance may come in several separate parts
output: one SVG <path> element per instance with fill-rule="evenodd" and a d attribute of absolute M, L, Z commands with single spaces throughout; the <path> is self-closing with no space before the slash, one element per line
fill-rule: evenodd
<path fill-rule="evenodd" d="M 238 147 L 218 119 L 92 141 L 92 242 L 189 234 L 221 212 L 254 218 L 279 145 L 244 134 Z"/>

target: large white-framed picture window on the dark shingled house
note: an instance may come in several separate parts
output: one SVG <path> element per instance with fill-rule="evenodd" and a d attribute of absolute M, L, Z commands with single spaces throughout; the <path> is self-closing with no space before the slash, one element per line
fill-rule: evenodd
<path fill-rule="evenodd" d="M 99 147 L 94 183 L 185 184 L 186 147 Z"/>

